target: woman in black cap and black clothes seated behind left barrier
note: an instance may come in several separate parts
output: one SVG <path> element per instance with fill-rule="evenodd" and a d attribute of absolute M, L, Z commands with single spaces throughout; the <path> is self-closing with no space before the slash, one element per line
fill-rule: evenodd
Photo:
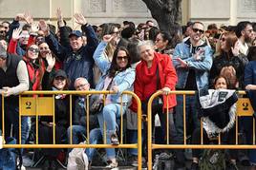
<path fill-rule="evenodd" d="M 49 78 L 50 73 L 46 72 L 44 79 Z M 49 85 L 45 90 L 63 91 L 68 90 L 69 79 L 64 70 L 58 69 L 53 72 L 53 78 L 48 79 Z M 40 117 L 39 121 L 39 143 L 53 144 L 53 126 L 55 128 L 55 143 L 60 144 L 66 139 L 66 131 L 70 124 L 70 96 L 66 94 L 54 95 L 54 124 L 53 116 Z M 46 158 L 44 168 L 57 169 L 57 156 L 61 149 L 44 149 Z"/>

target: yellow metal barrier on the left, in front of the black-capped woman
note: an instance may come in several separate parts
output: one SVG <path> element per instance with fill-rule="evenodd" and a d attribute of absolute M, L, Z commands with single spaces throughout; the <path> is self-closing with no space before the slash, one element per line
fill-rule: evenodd
<path fill-rule="evenodd" d="M 72 95 L 86 95 L 87 100 L 87 139 L 89 139 L 89 95 L 91 94 L 103 94 L 104 98 L 106 94 L 114 94 L 112 91 L 26 91 L 19 96 L 19 141 L 21 142 L 21 117 L 22 116 L 35 116 L 36 117 L 36 143 L 35 144 L 6 144 L 3 143 L 3 148 L 137 148 L 138 149 L 138 161 L 141 162 L 142 153 L 142 143 L 141 143 L 141 103 L 139 97 L 131 92 L 124 91 L 123 94 L 131 95 L 138 104 L 138 143 L 123 144 L 122 140 L 122 129 L 123 129 L 123 117 L 121 116 L 121 140 L 118 145 L 111 144 L 55 144 L 55 126 L 54 126 L 54 95 L 66 94 L 70 95 L 70 126 L 72 132 Z M 26 96 L 24 96 L 26 95 Z M 52 97 L 38 97 L 38 95 L 52 95 Z M 32 96 L 32 97 L 28 97 Z M 121 101 L 122 103 L 122 101 Z M 122 105 L 122 104 L 121 104 Z M 122 110 L 122 109 L 121 109 Z M 2 135 L 5 138 L 5 123 L 4 123 L 4 97 L 2 95 Z M 122 115 L 122 114 L 121 114 Z M 38 144 L 38 117 L 39 116 L 53 116 L 53 144 Z M 104 133 L 105 134 L 105 133 Z M 71 143 L 72 143 L 72 133 L 71 133 Z M 142 168 L 141 163 L 138 166 L 139 169 Z"/>

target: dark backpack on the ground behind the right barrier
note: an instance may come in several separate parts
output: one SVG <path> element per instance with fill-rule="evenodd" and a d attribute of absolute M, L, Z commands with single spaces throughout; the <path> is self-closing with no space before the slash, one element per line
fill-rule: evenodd
<path fill-rule="evenodd" d="M 199 167 L 203 170 L 225 170 L 224 150 L 204 149 Z"/>

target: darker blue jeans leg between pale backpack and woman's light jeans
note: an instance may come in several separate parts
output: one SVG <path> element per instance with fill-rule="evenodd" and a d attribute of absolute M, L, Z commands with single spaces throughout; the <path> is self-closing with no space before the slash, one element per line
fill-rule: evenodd
<path fill-rule="evenodd" d="M 97 144 L 99 141 L 102 141 L 102 135 L 100 128 L 95 128 L 90 132 L 90 144 Z M 96 153 L 96 148 L 87 148 L 86 154 L 88 156 L 88 160 L 92 161 L 94 155 Z"/>

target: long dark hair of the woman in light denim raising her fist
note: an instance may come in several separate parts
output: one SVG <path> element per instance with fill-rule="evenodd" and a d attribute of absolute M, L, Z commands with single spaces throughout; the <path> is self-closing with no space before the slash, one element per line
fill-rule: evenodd
<path fill-rule="evenodd" d="M 127 64 L 127 66 L 125 66 L 125 68 L 120 68 L 117 65 L 117 53 L 120 50 L 125 51 L 125 53 L 126 53 L 126 55 L 128 57 L 128 64 Z M 128 67 L 131 67 L 131 56 L 130 56 L 127 48 L 126 47 L 117 47 L 117 49 L 115 50 L 114 55 L 113 55 L 113 60 L 112 60 L 111 66 L 110 66 L 110 68 L 108 70 L 108 76 L 110 78 L 115 77 L 117 71 L 124 71 Z"/>

